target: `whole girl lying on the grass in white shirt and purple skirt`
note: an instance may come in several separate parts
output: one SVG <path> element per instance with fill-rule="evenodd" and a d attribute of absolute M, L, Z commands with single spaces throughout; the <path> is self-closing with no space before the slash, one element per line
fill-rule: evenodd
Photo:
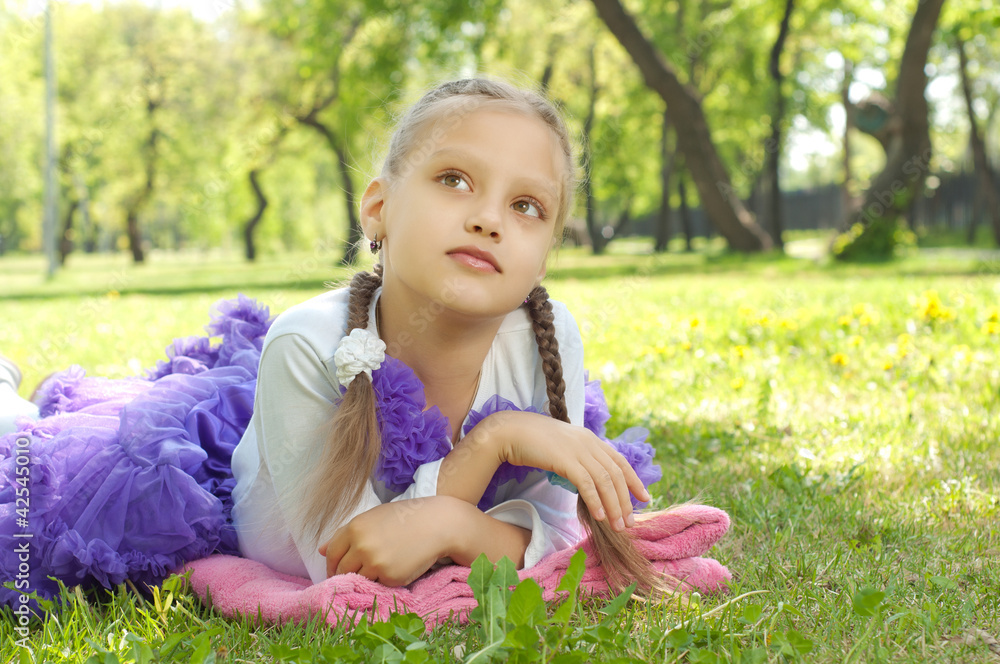
<path fill-rule="evenodd" d="M 23 616 L 53 579 L 144 588 L 215 552 L 399 585 L 480 553 L 531 566 L 581 524 L 613 582 L 665 587 L 627 536 L 652 449 L 603 439 L 579 332 L 539 286 L 573 189 L 537 95 L 428 93 L 363 197 L 374 273 L 273 323 L 223 301 L 146 377 L 38 388 L 40 417 L 0 435 L 0 604 Z"/>

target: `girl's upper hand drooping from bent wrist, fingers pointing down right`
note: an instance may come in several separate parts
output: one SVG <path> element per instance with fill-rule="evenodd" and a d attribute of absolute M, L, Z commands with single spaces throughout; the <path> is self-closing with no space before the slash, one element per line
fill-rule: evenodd
<path fill-rule="evenodd" d="M 611 528 L 622 531 L 635 524 L 631 493 L 641 501 L 650 499 L 642 481 L 621 454 L 589 429 L 537 413 L 505 411 L 490 415 L 477 425 L 502 432 L 499 460 L 515 466 L 550 470 L 576 487 L 591 515 L 608 519 Z M 472 432 L 470 432 L 472 433 Z"/>

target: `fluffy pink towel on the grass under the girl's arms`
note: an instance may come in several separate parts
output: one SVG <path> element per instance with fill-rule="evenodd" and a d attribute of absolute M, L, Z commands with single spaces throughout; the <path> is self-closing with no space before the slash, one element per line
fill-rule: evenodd
<path fill-rule="evenodd" d="M 729 571 L 718 561 L 699 557 L 729 528 L 729 516 L 703 505 L 682 505 L 646 515 L 633 528 L 640 551 L 662 570 L 684 583 L 684 590 L 725 592 Z M 608 597 L 606 576 L 593 564 L 589 540 L 545 557 L 521 570 L 523 580 L 534 579 L 546 600 L 556 587 L 577 549 L 587 552 L 581 582 L 584 594 Z M 428 627 L 454 620 L 464 623 L 475 608 L 467 579 L 469 568 L 447 565 L 425 574 L 407 587 L 389 588 L 357 574 L 342 574 L 313 585 L 309 579 L 276 572 L 262 563 L 235 556 L 215 555 L 188 563 L 195 592 L 223 615 L 243 615 L 265 623 L 308 620 L 322 615 L 330 625 L 365 614 L 386 620 L 392 612 L 414 612 Z"/>

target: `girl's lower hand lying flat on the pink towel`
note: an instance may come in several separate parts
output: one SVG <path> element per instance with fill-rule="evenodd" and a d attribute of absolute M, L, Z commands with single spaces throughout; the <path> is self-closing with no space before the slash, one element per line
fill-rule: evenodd
<path fill-rule="evenodd" d="M 447 555 L 446 505 L 438 497 L 385 503 L 351 519 L 319 548 L 326 576 L 354 572 L 405 586 Z"/>

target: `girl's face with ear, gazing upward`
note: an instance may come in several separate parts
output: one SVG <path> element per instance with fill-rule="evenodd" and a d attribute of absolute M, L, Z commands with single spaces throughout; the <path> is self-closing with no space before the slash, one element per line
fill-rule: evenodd
<path fill-rule="evenodd" d="M 495 107 L 444 124 L 424 131 L 393 186 L 369 185 L 362 224 L 385 238 L 387 290 L 416 306 L 504 316 L 545 274 L 562 204 L 558 140 L 542 120 Z"/>

